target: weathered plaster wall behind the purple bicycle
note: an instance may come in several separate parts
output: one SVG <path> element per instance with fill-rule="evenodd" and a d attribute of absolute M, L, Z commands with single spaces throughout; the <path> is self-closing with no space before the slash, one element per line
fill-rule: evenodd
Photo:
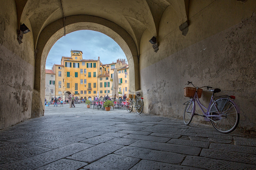
<path fill-rule="evenodd" d="M 160 21 L 157 53 L 147 43 L 152 36 L 150 32 L 143 33 L 140 83 L 144 112 L 182 119 L 182 103 L 187 101 L 183 88 L 187 81 L 192 81 L 198 86 L 221 88 L 218 95 L 235 95 L 241 111 L 240 127 L 256 130 L 256 14 L 253 13 L 256 3 L 252 0 L 214 1 L 203 6 L 195 3 L 189 4 L 190 25 L 186 36 L 178 29 L 175 10 L 166 8 Z M 203 92 L 203 104 L 206 105 L 210 95 Z"/>

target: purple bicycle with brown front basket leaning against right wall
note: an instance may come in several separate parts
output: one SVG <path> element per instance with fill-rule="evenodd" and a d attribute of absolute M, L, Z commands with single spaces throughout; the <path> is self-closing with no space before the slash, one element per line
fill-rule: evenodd
<path fill-rule="evenodd" d="M 184 123 L 188 125 L 193 116 L 203 116 L 206 121 L 211 121 L 213 127 L 221 132 L 221 133 L 230 133 L 236 129 L 239 123 L 239 114 L 240 110 L 237 104 L 234 102 L 235 96 L 217 96 L 214 97 L 215 93 L 221 91 L 219 88 L 215 88 L 209 90 L 209 86 L 198 87 L 194 85 L 192 82 L 188 82 L 188 85 L 192 84 L 194 87 L 185 87 L 184 95 L 185 97 L 189 97 L 189 100 L 185 102 L 185 110 L 184 110 Z M 202 103 L 200 103 L 199 98 L 202 95 L 202 89 L 207 88 L 207 90 L 212 92 L 211 100 L 208 108 L 204 107 Z M 233 100 L 232 100 L 233 99 Z M 203 115 L 199 115 L 195 113 L 196 105 L 202 110 Z M 207 111 L 204 112 L 204 109 Z"/>

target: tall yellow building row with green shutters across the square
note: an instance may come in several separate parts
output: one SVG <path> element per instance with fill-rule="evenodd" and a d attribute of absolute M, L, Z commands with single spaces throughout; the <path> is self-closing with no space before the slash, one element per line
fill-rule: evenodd
<path fill-rule="evenodd" d="M 101 100 L 107 93 L 112 94 L 112 75 L 118 69 L 120 92 L 129 90 L 128 65 L 125 59 L 116 63 L 102 64 L 99 60 L 84 60 L 82 51 L 72 50 L 71 57 L 62 57 L 61 65 L 54 64 L 56 73 L 55 96 L 67 99 L 69 94 L 81 99 L 94 100 L 99 91 Z M 110 77 L 111 75 L 111 77 Z"/>

